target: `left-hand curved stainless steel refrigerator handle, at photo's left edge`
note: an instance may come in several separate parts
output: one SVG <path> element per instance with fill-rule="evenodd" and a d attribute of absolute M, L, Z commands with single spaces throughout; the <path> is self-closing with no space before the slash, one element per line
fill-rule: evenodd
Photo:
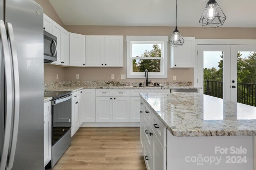
<path fill-rule="evenodd" d="M 8 150 L 10 145 L 10 136 L 12 129 L 12 106 L 13 106 L 13 95 L 12 95 L 12 66 L 11 57 L 8 47 L 8 39 L 5 29 L 4 21 L 0 20 L 0 38 L 2 42 L 2 51 L 4 57 L 4 77 L 5 77 L 5 92 L 6 92 L 6 122 L 4 127 L 4 144 L 2 150 L 2 157 L 0 162 L 0 170 L 6 169 L 6 163 L 8 158 Z"/>

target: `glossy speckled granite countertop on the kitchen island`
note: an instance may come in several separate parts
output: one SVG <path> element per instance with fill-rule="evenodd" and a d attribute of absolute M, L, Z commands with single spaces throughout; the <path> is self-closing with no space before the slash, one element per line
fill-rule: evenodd
<path fill-rule="evenodd" d="M 256 107 L 200 93 L 140 93 L 174 136 L 254 136 Z"/>

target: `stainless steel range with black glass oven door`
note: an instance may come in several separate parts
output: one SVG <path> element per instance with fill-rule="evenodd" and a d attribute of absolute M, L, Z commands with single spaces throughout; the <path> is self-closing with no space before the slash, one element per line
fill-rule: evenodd
<path fill-rule="evenodd" d="M 71 144 L 71 91 L 44 91 L 52 100 L 52 168 Z"/>

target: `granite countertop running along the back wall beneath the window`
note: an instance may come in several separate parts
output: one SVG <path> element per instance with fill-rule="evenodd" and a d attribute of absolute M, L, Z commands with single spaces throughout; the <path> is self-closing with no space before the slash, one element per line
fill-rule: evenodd
<path fill-rule="evenodd" d="M 71 91 L 74 93 L 76 91 L 80 91 L 82 89 L 202 89 L 202 87 L 194 87 L 194 86 L 148 86 L 148 87 L 133 87 L 133 86 L 62 86 L 55 88 L 46 88 L 46 91 Z"/>

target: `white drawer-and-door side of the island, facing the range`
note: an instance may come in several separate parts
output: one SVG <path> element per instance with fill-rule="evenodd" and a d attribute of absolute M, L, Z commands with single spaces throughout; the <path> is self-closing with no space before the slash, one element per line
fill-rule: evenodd
<path fill-rule="evenodd" d="M 146 105 L 146 103 L 144 103 L 144 105 Z M 143 111 L 143 107 L 140 107 L 138 111 L 141 112 L 140 141 L 142 143 L 142 152 L 146 168 L 147 170 L 166 170 L 166 141 L 160 142 L 160 140 L 167 140 L 166 127 L 162 127 L 160 120 L 149 122 L 148 116 L 145 111 Z M 152 112 L 151 109 L 150 112 Z M 153 112 L 152 117 L 154 120 L 157 118 L 154 116 Z M 158 136 L 160 137 L 160 140 Z M 164 143 L 165 146 L 163 146 L 162 143 Z"/>

